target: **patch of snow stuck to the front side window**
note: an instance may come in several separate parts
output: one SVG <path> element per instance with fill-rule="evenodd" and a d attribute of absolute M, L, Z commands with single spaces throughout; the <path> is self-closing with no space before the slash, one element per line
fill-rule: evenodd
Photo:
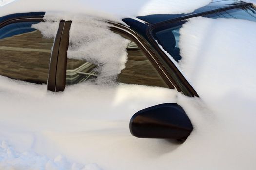
<path fill-rule="evenodd" d="M 97 83 L 115 80 L 127 61 L 130 41 L 109 27 L 100 18 L 84 15 L 75 16 L 70 29 L 68 58 L 84 59 L 99 66 Z"/>

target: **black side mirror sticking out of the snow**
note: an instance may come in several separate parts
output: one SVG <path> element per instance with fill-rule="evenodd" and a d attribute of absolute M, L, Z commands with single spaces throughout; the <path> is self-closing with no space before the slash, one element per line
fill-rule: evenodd
<path fill-rule="evenodd" d="M 130 120 L 130 132 L 139 138 L 185 140 L 193 130 L 190 119 L 177 103 L 143 109 Z"/>

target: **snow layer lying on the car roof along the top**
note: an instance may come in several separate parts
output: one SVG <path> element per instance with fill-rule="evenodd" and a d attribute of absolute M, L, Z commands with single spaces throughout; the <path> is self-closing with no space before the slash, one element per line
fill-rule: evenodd
<path fill-rule="evenodd" d="M 1 7 L 0 16 L 55 11 L 89 14 L 112 20 L 150 14 L 190 13 L 211 0 L 16 0 Z"/>

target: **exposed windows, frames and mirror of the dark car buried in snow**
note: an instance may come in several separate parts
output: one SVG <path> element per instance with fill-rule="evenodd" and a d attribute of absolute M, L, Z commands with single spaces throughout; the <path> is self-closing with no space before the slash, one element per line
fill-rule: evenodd
<path fill-rule="evenodd" d="M 55 15 L 28 11 L 0 17 L 0 75 L 18 82 L 47 85 L 45 91 L 57 96 L 81 82 L 93 85 L 103 82 L 106 86 L 161 87 L 197 100 L 200 93 L 178 66 L 182 62 L 180 29 L 195 17 L 256 22 L 256 7 L 237 0 L 213 0 L 189 14 L 154 14 L 124 18 L 122 22 L 92 16 L 72 20 Z M 58 19 L 51 20 L 51 17 Z M 84 27 L 87 24 L 89 29 Z M 102 34 L 94 34 L 93 30 Z M 82 43 L 87 43 L 86 48 Z M 118 45 L 112 47 L 111 44 Z M 123 49 L 118 51 L 118 48 L 124 46 L 127 60 L 120 57 L 121 62 L 126 60 L 123 67 L 118 61 L 118 56 L 123 56 Z M 85 50 L 89 54 L 84 54 Z M 118 55 L 115 58 L 113 54 L 113 61 L 107 57 L 112 55 L 111 50 Z M 99 59 L 89 55 L 106 57 Z M 194 127 L 187 111 L 177 102 L 158 103 L 137 110 L 131 113 L 130 132 L 139 138 L 184 142 Z"/>

